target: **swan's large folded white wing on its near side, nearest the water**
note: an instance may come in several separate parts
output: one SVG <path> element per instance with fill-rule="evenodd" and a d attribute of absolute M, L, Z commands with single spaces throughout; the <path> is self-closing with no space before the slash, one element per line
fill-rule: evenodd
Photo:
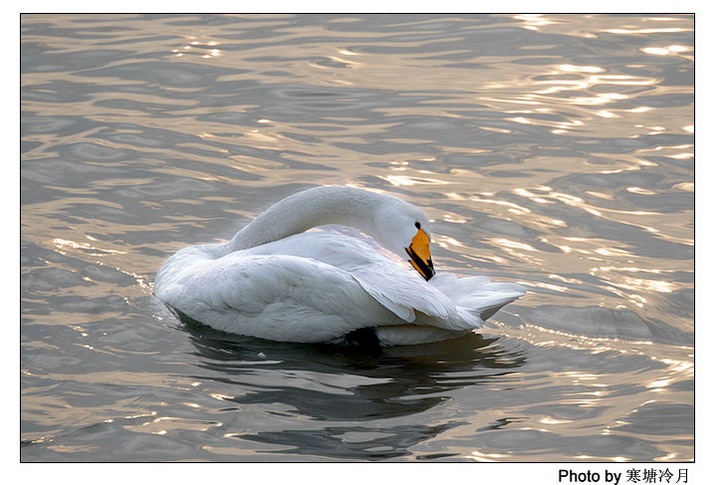
<path fill-rule="evenodd" d="M 159 289 L 166 303 L 211 327 L 277 341 L 325 342 L 404 323 L 345 271 L 290 255 L 233 253 Z"/>

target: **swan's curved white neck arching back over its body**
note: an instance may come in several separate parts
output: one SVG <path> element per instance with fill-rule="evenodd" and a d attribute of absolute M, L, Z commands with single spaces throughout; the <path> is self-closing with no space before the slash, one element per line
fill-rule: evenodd
<path fill-rule="evenodd" d="M 316 187 L 287 197 L 256 217 L 228 243 L 228 252 L 249 249 L 305 232 L 316 226 L 342 224 L 375 233 L 379 194 L 351 187 Z"/>

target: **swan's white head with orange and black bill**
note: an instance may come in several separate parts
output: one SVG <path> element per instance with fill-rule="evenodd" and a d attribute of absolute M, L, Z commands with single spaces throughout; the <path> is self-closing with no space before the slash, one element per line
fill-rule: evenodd
<path fill-rule="evenodd" d="M 430 253 L 429 219 L 417 207 L 400 199 L 378 211 L 377 239 L 398 256 L 405 257 L 422 277 L 429 281 L 434 276 Z"/>

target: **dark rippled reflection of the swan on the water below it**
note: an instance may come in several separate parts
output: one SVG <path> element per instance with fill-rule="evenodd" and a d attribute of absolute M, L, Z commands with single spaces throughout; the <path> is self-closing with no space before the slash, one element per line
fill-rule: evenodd
<path fill-rule="evenodd" d="M 223 396 L 226 430 L 232 412 L 237 419 L 254 409 L 276 415 L 275 426 L 242 424 L 235 439 L 264 443 L 266 450 L 279 453 L 338 459 L 411 454 L 414 445 L 464 423 L 445 418 L 415 425 L 410 416 L 449 403 L 452 391 L 510 379 L 525 362 L 520 350 L 507 350 L 499 339 L 478 334 L 411 347 L 365 348 L 269 342 L 189 319 L 183 319 L 183 328 L 200 368 L 190 377 Z M 294 423 L 289 428 L 280 424 L 286 419 Z M 296 423 L 305 427 L 296 428 Z M 504 424 L 494 422 L 493 427 Z M 351 441 L 350 433 L 360 439 Z"/>

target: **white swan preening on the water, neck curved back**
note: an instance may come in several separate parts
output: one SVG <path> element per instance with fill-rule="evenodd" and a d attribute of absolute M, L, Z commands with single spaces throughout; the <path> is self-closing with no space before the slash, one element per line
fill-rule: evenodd
<path fill-rule="evenodd" d="M 305 232 L 326 224 L 374 239 L 336 227 Z M 227 243 L 178 251 L 154 294 L 227 332 L 339 342 L 374 329 L 383 345 L 460 336 L 524 294 L 485 277 L 435 275 L 430 235 L 427 216 L 397 197 L 317 187 L 278 202 Z"/>

